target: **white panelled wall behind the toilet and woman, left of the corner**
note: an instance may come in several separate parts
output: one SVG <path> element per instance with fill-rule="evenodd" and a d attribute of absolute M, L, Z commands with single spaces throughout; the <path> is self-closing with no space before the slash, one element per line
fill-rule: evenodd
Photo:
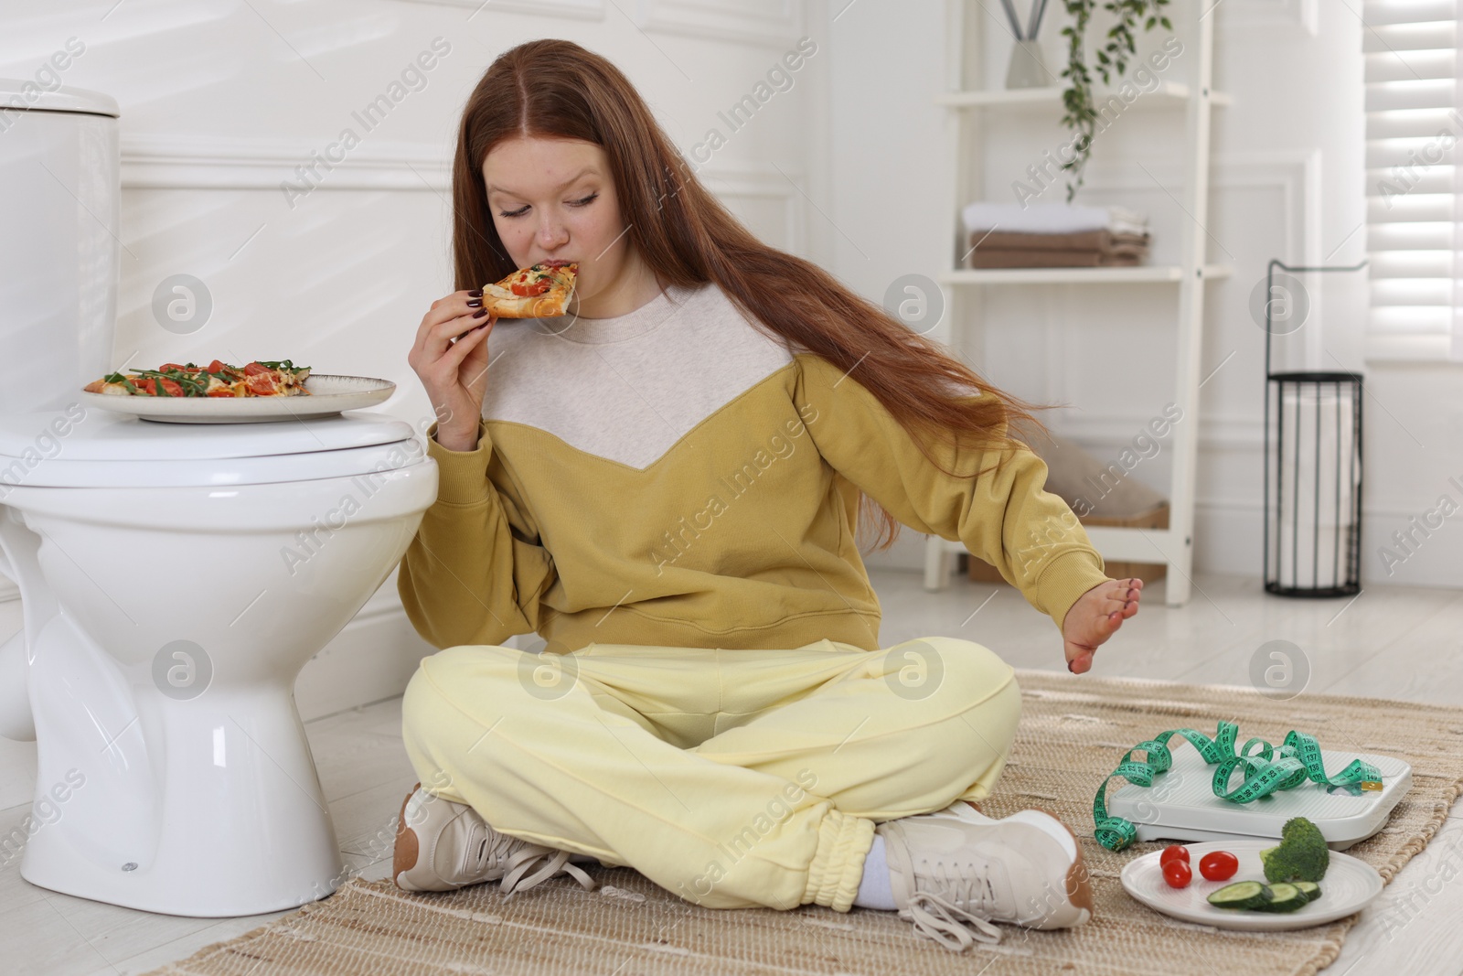
<path fill-rule="evenodd" d="M 819 47 L 791 86 L 730 132 L 718 113 L 756 97 L 805 35 Z M 535 37 L 613 60 L 683 154 L 720 129 L 726 145 L 704 165 L 696 157 L 699 176 L 768 243 L 828 259 L 827 228 L 809 222 L 831 209 L 818 1 L 6 0 L 0 76 L 35 78 L 76 38 L 85 50 L 63 82 L 121 105 L 116 366 L 288 357 L 394 380 L 383 411 L 424 429 L 430 407 L 407 351 L 430 303 L 452 290 L 446 195 L 461 107 L 500 51 Z M 394 91 L 423 53 L 424 83 Z M 394 107 L 367 130 L 356 113 L 382 94 Z M 303 181 L 297 167 L 344 129 L 360 145 L 317 184 Z M 309 192 L 285 193 L 284 181 Z M 212 299 L 189 335 L 152 315 L 154 291 L 174 274 L 199 278 Z M 427 650 L 388 579 L 304 669 L 301 713 L 398 694 Z"/>

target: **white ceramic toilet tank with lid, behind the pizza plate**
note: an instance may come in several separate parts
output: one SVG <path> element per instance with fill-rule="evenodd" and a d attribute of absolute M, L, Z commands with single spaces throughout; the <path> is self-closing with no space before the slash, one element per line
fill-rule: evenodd
<path fill-rule="evenodd" d="M 0 413 L 66 410 L 113 367 L 117 102 L 0 79 Z"/>

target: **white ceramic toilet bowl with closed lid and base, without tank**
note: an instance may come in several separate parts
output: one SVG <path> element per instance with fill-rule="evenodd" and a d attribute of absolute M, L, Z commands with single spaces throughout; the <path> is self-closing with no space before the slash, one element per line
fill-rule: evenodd
<path fill-rule="evenodd" d="M 411 426 L 379 414 L 0 416 L 0 569 L 25 615 L 0 682 L 23 676 L 29 705 L 0 695 L 0 733 L 34 726 L 38 755 L 22 876 L 189 916 L 334 891 L 294 680 L 436 492 Z"/>

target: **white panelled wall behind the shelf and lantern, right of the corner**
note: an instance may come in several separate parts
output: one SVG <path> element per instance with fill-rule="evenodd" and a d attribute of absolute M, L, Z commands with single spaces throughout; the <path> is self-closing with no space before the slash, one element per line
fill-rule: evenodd
<path fill-rule="evenodd" d="M 1214 85 L 1233 98 L 1214 110 L 1208 260 L 1230 265 L 1233 274 L 1208 285 L 1206 303 L 1201 375 L 1217 372 L 1201 389 L 1195 565 L 1258 577 L 1264 331 L 1248 301 L 1257 284 L 1263 290 L 1270 258 L 1347 265 L 1365 258 L 1362 26 L 1349 4 L 1317 0 L 1203 6 L 1217 22 Z M 1065 57 L 1058 7 L 1048 7 L 1040 31 L 1053 70 Z M 967 12 L 985 19 L 988 38 L 985 60 L 967 70 L 1001 86 L 1011 40 L 995 20 L 999 6 L 967 4 Z M 898 275 L 933 277 L 948 262 L 952 146 L 944 110 L 932 104 L 945 86 L 942 31 L 935 29 L 942 23 L 944 0 L 909 0 L 898 18 L 860 3 L 834 23 L 831 217 L 846 234 L 834 240 L 834 266 L 870 299 L 882 299 Z M 1189 69 L 1179 57 L 1172 72 Z M 1069 138 L 1055 111 L 1002 119 L 985 155 L 988 199 L 1014 199 L 1011 181 L 1042 149 Z M 1189 219 L 1178 203 L 1181 142 L 1179 110 L 1129 110 L 1099 136 L 1075 200 L 1146 211 L 1153 263 L 1178 259 L 1176 236 Z M 1058 186 L 1040 199 L 1064 193 Z M 1394 530 L 1435 508 L 1440 495 L 1463 506 L 1463 489 L 1448 483 L 1463 483 L 1463 369 L 1364 363 L 1361 277 L 1314 277 L 1308 284 L 1315 309 L 1287 339 L 1287 364 L 1366 375 L 1362 584 L 1463 587 L 1463 514 L 1416 546 L 1393 575 L 1378 555 Z M 1116 458 L 1172 399 L 1172 287 L 985 291 L 986 345 L 964 350 L 967 360 L 1011 392 L 1067 404 L 1045 418 L 1102 459 Z M 1285 353 L 1277 341 L 1277 354 Z M 1167 454 L 1144 461 L 1132 476 L 1166 493 Z M 922 543 L 906 533 L 894 550 L 869 562 L 917 568 Z"/>

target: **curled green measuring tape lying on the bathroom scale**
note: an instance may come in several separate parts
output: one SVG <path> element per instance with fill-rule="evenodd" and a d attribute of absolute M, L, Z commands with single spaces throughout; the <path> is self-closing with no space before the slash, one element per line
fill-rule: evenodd
<path fill-rule="evenodd" d="M 1381 773 L 1371 762 L 1352 759 L 1350 764 L 1336 776 L 1325 776 L 1321 764 L 1321 746 L 1314 736 L 1304 732 L 1290 730 L 1285 742 L 1276 749 L 1264 739 L 1249 739 L 1235 752 L 1235 740 L 1239 737 L 1239 726 L 1233 721 L 1220 721 L 1219 732 L 1213 739 L 1192 729 L 1170 729 L 1159 733 L 1147 742 L 1128 749 L 1118 768 L 1097 787 L 1093 799 L 1093 836 L 1107 850 L 1122 850 L 1138 838 L 1138 830 L 1121 817 L 1107 815 L 1105 796 L 1107 784 L 1116 777 L 1124 777 L 1134 786 L 1153 786 L 1153 778 L 1167 773 L 1173 765 L 1173 754 L 1169 752 L 1169 739 L 1184 736 L 1188 739 L 1204 762 L 1214 768 L 1214 796 L 1235 803 L 1248 803 L 1276 790 L 1293 790 L 1306 780 L 1323 786 L 1358 784 L 1364 790 L 1381 789 Z M 1143 752 L 1143 759 L 1134 759 L 1134 752 Z M 1229 781 L 1235 770 L 1244 771 L 1244 783 L 1236 789 L 1229 789 Z"/>

